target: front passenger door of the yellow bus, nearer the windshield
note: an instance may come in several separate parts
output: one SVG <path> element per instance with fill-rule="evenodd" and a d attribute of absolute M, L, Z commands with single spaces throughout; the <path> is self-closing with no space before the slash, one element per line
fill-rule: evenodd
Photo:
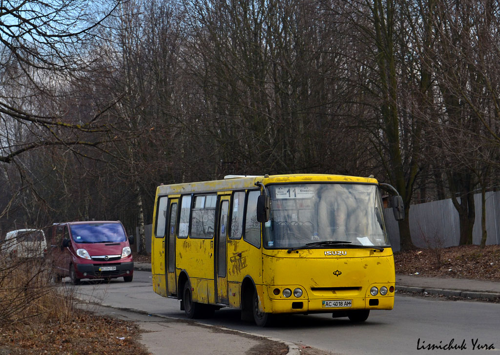
<path fill-rule="evenodd" d="M 216 303 L 229 304 L 227 296 L 227 220 L 230 195 L 221 195 L 218 203 L 216 233 L 215 288 Z"/>

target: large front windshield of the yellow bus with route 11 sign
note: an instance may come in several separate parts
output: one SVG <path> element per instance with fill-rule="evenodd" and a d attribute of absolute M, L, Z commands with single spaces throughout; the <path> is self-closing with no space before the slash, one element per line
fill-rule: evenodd
<path fill-rule="evenodd" d="M 267 187 L 271 209 L 269 221 L 264 223 L 265 248 L 294 248 L 312 242 L 314 247 L 331 247 L 329 241 L 344 242 L 338 244 L 342 247 L 389 245 L 382 203 L 374 184 L 302 183 Z"/>

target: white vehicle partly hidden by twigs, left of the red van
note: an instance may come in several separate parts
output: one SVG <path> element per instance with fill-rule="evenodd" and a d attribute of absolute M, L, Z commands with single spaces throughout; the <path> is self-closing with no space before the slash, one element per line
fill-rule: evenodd
<path fill-rule="evenodd" d="M 47 252 L 45 234 L 41 229 L 17 229 L 7 232 L 1 252 L 10 257 L 44 257 Z"/>

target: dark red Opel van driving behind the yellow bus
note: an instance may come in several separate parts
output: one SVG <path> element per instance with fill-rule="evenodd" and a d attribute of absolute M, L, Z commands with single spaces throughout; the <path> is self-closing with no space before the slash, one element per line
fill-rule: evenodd
<path fill-rule="evenodd" d="M 73 284 L 82 278 L 133 278 L 130 244 L 119 221 L 54 223 L 50 258 L 57 280 L 69 276 Z"/>

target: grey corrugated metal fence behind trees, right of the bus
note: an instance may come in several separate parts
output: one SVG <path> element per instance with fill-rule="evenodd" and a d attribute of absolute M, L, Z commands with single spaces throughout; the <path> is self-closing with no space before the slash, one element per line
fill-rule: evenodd
<path fill-rule="evenodd" d="M 500 244 L 500 191 L 486 192 L 486 244 Z M 472 230 L 474 244 L 481 242 L 481 194 L 474 195 L 475 221 Z M 399 230 L 392 210 L 385 211 L 387 231 L 394 251 L 399 250 Z M 411 241 L 417 247 L 448 247 L 458 245 L 460 227 L 458 212 L 451 198 L 409 207 Z"/>

